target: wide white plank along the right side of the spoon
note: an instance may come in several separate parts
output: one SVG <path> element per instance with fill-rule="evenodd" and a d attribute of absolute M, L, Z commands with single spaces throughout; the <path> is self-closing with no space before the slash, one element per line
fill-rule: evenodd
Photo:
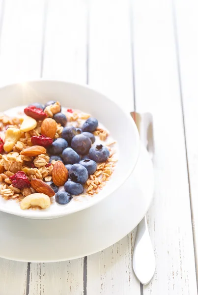
<path fill-rule="evenodd" d="M 171 1 L 133 1 L 133 24 L 136 105 L 153 114 L 156 148 L 147 214 L 156 272 L 143 294 L 197 294 Z"/>

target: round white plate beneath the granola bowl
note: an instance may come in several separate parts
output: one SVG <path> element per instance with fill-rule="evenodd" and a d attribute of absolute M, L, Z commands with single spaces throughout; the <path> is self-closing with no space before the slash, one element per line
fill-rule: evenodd
<path fill-rule="evenodd" d="M 153 196 L 153 168 L 141 153 L 129 179 L 99 204 L 49 220 L 0 212 L 0 257 L 25 262 L 56 262 L 93 254 L 132 231 Z"/>

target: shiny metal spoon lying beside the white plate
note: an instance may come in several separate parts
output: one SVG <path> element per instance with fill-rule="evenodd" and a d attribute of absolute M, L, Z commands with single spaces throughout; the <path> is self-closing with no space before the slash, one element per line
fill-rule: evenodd
<path fill-rule="evenodd" d="M 131 116 L 138 128 L 141 142 L 152 158 L 154 154 L 152 115 L 150 113 L 139 114 L 132 112 Z M 133 270 L 143 285 L 150 282 L 155 272 L 155 256 L 148 232 L 146 216 L 144 216 L 137 228 L 133 250 Z"/>

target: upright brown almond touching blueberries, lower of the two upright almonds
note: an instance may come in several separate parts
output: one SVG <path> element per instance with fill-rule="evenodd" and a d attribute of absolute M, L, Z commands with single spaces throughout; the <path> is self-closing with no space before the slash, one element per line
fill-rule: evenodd
<path fill-rule="evenodd" d="M 57 185 L 63 185 L 68 179 L 68 171 L 61 161 L 56 161 L 52 171 L 53 182 Z"/>

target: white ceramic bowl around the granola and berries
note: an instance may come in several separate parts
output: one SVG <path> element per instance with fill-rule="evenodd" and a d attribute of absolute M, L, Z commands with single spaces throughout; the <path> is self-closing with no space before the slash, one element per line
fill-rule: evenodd
<path fill-rule="evenodd" d="M 112 100 L 88 86 L 50 80 L 9 85 L 0 89 L 0 102 L 3 102 L 0 104 L 0 112 L 33 102 L 45 103 L 49 100 L 58 100 L 63 107 L 90 113 L 109 130 L 113 139 L 117 141 L 119 149 L 119 158 L 113 175 L 97 195 L 83 202 L 72 200 L 67 205 L 53 202 L 45 210 L 22 210 L 15 200 L 6 201 L 0 198 L 0 211 L 35 219 L 65 216 L 93 206 L 112 194 L 131 175 L 136 166 L 140 140 L 133 119 Z M 124 196 L 120 196 L 120 202 L 124 202 Z"/>

